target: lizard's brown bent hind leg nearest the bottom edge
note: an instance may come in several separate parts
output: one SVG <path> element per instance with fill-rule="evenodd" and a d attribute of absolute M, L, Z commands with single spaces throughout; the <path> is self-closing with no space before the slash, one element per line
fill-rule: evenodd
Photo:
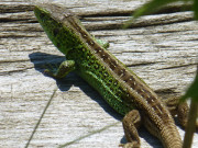
<path fill-rule="evenodd" d="M 141 116 L 138 110 L 132 110 L 122 119 L 122 125 L 128 140 L 121 145 L 123 148 L 140 148 L 140 137 L 138 128 L 141 125 Z"/>

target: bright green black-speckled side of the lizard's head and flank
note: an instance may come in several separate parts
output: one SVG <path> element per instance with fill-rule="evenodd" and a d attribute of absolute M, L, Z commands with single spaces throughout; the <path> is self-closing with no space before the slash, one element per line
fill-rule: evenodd
<path fill-rule="evenodd" d="M 67 60 L 75 61 L 75 72 L 92 86 L 118 113 L 125 115 L 125 113 L 131 111 L 133 107 L 129 106 L 121 99 L 125 98 L 127 93 L 119 81 L 91 54 L 84 41 L 75 34 L 75 31 L 63 26 L 45 9 L 35 8 L 34 12 L 53 44 L 66 55 Z M 78 21 L 78 23 L 80 22 Z M 98 41 L 95 39 L 95 42 Z M 107 45 L 105 44 L 103 46 Z M 65 72 L 61 77 L 65 77 Z"/>

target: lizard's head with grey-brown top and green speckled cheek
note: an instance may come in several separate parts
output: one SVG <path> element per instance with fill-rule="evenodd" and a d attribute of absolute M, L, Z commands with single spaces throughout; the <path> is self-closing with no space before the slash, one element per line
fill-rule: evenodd
<path fill-rule="evenodd" d="M 79 20 L 66 8 L 54 4 L 35 5 L 34 14 L 48 38 L 64 55 L 80 45 L 72 23 Z"/>

